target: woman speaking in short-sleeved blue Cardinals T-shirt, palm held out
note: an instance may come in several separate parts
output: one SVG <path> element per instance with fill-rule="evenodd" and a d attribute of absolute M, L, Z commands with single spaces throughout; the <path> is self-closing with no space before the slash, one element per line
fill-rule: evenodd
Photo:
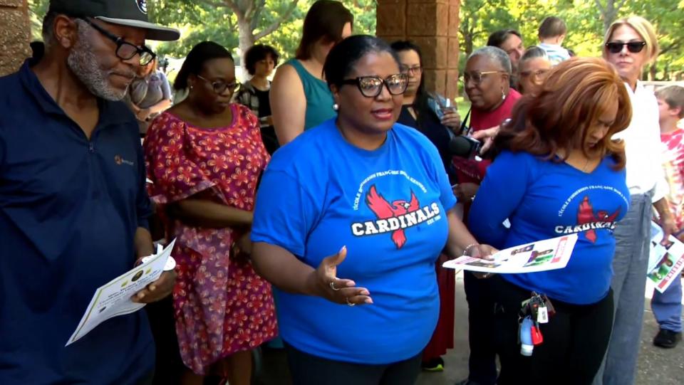
<path fill-rule="evenodd" d="M 294 384 L 413 384 L 439 315 L 435 262 L 484 256 L 435 146 L 396 124 L 395 52 L 352 36 L 324 66 L 338 116 L 281 147 L 254 212 L 252 260 L 278 294 Z"/>

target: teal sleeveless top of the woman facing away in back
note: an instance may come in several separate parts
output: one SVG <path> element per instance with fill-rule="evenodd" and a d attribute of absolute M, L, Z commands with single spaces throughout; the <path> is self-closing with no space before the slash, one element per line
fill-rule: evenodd
<path fill-rule="evenodd" d="M 337 112 L 333 110 L 333 94 L 330 93 L 328 83 L 311 75 L 299 60 L 291 59 L 286 64 L 294 67 L 301 79 L 301 84 L 304 85 L 304 95 L 306 95 L 304 131 L 336 117 Z"/>

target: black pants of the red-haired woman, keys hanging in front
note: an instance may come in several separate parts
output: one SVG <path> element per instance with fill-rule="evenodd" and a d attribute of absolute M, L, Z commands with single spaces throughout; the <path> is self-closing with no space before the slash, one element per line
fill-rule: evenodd
<path fill-rule="evenodd" d="M 534 347 L 532 357 L 525 357 L 518 343 L 518 312 L 530 292 L 499 276 L 491 280 L 501 360 L 498 384 L 591 384 L 611 337 L 613 290 L 592 305 L 572 305 L 551 298 L 556 315 L 540 325 L 544 343 Z"/>

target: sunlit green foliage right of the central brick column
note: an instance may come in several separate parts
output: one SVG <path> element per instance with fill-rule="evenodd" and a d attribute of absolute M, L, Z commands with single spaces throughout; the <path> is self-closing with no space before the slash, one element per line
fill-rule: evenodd
<path fill-rule="evenodd" d="M 684 71 L 684 0 L 464 0 L 460 46 L 465 57 L 487 43 L 489 33 L 515 28 L 525 46 L 539 42 L 537 28 L 546 16 L 568 26 L 563 46 L 578 56 L 600 56 L 603 33 L 618 18 L 639 15 L 658 31 L 661 53 L 646 71 L 651 80 L 670 80 Z"/>

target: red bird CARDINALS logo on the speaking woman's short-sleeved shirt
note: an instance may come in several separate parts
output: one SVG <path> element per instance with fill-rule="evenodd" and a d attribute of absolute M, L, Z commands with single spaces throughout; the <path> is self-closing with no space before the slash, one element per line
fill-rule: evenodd
<path fill-rule="evenodd" d="M 378 194 L 375 185 L 368 189 L 366 204 L 377 220 L 352 223 L 351 231 L 355 236 L 391 233 L 392 242 L 398 249 L 406 243 L 405 229 L 420 223 L 430 224 L 440 218 L 440 206 L 432 203 L 420 207 L 418 198 L 411 191 L 410 200 L 398 199 L 391 203 Z"/>

